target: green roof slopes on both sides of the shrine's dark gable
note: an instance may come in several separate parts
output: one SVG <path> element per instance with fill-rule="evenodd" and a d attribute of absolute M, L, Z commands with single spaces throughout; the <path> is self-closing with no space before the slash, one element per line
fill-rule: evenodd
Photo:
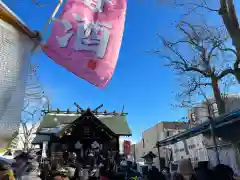
<path fill-rule="evenodd" d="M 73 123 L 81 113 L 47 113 L 38 128 L 40 134 L 56 134 L 61 128 Z M 131 136 L 126 115 L 94 115 L 105 124 L 113 133 L 119 136 Z"/>

